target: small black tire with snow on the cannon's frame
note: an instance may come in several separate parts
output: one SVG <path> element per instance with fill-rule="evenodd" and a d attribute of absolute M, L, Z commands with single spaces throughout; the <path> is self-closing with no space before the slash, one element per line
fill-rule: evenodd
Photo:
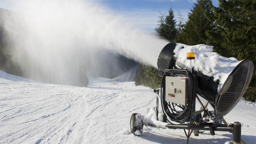
<path fill-rule="evenodd" d="M 139 113 L 134 113 L 130 119 L 131 132 L 135 135 L 140 135 L 143 133 L 143 118 Z"/>

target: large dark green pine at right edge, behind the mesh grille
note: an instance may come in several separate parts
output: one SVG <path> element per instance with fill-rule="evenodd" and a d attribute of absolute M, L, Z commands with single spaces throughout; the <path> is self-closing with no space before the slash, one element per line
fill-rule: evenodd
<path fill-rule="evenodd" d="M 250 59 L 254 64 L 254 73 L 244 97 L 256 99 L 256 1 L 255 0 L 219 0 L 214 10 L 215 29 L 207 31 L 214 50 L 226 57 L 238 60 Z M 209 17 L 211 18 L 211 17 Z M 208 44 L 208 43 L 207 43 Z M 215 46 L 215 44 L 218 44 Z M 217 48 L 217 49 L 216 49 Z"/>

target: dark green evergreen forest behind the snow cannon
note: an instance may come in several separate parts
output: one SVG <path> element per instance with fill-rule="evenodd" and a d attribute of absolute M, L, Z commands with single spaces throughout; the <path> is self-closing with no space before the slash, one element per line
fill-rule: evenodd
<path fill-rule="evenodd" d="M 219 0 L 219 7 L 211 0 L 197 0 L 188 20 L 184 22 L 180 14 L 174 19 L 174 11 L 160 13 L 155 32 L 170 42 L 185 45 L 206 44 L 214 46 L 214 52 L 221 56 L 235 57 L 237 60 L 250 59 L 253 62 L 253 76 L 244 99 L 256 101 L 256 1 Z M 160 88 L 161 77 L 158 70 L 140 64 L 136 75 L 136 86 Z"/>

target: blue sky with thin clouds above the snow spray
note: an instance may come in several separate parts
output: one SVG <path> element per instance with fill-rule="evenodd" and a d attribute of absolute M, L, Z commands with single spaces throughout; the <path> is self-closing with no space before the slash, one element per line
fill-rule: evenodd
<path fill-rule="evenodd" d="M 153 32 L 157 27 L 158 16 L 172 7 L 175 19 L 178 19 L 178 11 L 183 15 L 184 20 L 188 19 L 188 12 L 193 8 L 196 0 L 94 0 L 97 3 L 110 9 L 113 14 L 124 15 L 127 20 L 132 21 L 138 27 Z M 0 7 L 8 10 L 15 0 L 0 0 Z M 213 5 L 218 6 L 218 0 L 212 0 Z M 14 10 L 18 11 L 18 10 Z"/>

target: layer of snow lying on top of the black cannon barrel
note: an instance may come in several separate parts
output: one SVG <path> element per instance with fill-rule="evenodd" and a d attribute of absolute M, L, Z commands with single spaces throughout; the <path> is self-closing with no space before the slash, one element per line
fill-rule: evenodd
<path fill-rule="evenodd" d="M 177 43 L 177 46 L 174 49 L 174 57 L 177 58 L 177 62 L 181 62 L 188 70 L 190 70 L 191 67 L 190 61 L 187 60 L 187 52 L 193 50 L 195 53 L 195 60 L 192 60 L 192 68 L 194 68 L 195 71 L 202 72 L 206 76 L 214 77 L 214 81 L 219 80 L 219 92 L 229 74 L 240 61 L 234 57 L 227 58 L 220 56 L 218 53 L 212 52 L 212 48 L 213 46 L 204 44 L 188 46 L 182 43 Z"/>

